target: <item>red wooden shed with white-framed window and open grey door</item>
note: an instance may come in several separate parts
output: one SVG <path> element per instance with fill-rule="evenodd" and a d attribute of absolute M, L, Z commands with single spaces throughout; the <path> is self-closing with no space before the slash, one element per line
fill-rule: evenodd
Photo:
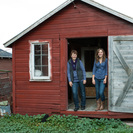
<path fill-rule="evenodd" d="M 4 44 L 13 49 L 13 113 L 133 118 L 133 19 L 92 0 L 67 0 Z M 95 50 L 108 58 L 106 108 L 95 111 Z M 87 75 L 86 109 L 73 111 L 67 60 L 76 49 Z"/>

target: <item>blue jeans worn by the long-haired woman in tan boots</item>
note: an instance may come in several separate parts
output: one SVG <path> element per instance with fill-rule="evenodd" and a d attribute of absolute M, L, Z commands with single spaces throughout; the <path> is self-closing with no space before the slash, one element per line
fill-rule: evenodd
<path fill-rule="evenodd" d="M 105 100 L 104 90 L 105 84 L 103 83 L 104 79 L 95 78 L 95 88 L 96 88 L 96 100 L 101 98 L 101 101 Z"/>

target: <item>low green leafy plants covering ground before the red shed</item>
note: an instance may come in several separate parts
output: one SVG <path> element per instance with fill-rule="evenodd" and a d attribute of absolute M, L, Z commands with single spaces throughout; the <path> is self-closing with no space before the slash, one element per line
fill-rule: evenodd
<path fill-rule="evenodd" d="M 0 133 L 132 133 L 133 128 L 119 119 L 89 119 L 78 116 L 12 114 L 0 118 Z"/>

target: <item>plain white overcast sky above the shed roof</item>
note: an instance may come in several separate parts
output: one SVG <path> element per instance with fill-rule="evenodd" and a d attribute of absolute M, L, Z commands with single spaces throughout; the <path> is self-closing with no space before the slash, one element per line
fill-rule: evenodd
<path fill-rule="evenodd" d="M 0 0 L 0 48 L 66 0 Z M 94 0 L 133 18 L 133 0 Z"/>

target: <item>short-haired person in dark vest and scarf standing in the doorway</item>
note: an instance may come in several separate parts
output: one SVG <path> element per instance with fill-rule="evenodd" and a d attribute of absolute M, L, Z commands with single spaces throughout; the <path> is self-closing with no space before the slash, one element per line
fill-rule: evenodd
<path fill-rule="evenodd" d="M 79 110 L 78 100 L 78 87 L 80 87 L 81 93 L 81 110 L 85 109 L 86 95 L 85 95 L 85 84 L 86 84 L 86 73 L 83 63 L 77 58 L 77 51 L 71 51 L 71 58 L 67 63 L 67 76 L 70 87 L 72 87 L 73 100 L 75 104 L 74 111 Z"/>

